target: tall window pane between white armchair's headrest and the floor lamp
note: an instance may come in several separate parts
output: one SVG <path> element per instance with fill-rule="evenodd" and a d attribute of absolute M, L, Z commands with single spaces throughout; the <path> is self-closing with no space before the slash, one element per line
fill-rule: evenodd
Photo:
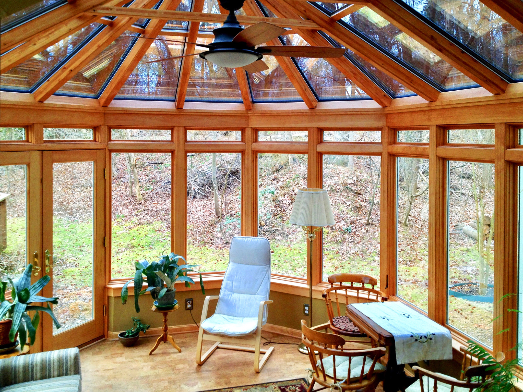
<path fill-rule="evenodd" d="M 258 236 L 270 242 L 271 272 L 306 276 L 305 236 L 289 223 L 297 190 L 306 187 L 306 155 L 258 154 Z"/>

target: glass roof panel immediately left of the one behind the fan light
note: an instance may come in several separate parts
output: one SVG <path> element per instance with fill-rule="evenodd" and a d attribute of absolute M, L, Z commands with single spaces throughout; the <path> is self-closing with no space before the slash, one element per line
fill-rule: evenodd
<path fill-rule="evenodd" d="M 142 57 L 140 63 L 134 68 L 132 74 L 129 75 L 116 98 L 175 100 L 181 59 L 144 63 L 179 56 L 184 44 L 169 42 L 168 40 L 172 38 L 181 41 L 183 38 L 164 36 L 157 38 Z"/>

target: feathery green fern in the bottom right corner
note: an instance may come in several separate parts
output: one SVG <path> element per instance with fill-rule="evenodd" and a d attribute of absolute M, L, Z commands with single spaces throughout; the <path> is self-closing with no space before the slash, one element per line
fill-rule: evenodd
<path fill-rule="evenodd" d="M 516 294 L 505 294 L 499 302 L 501 303 L 505 298 L 515 296 Z M 507 309 L 508 312 L 517 312 L 523 313 L 518 309 Z M 496 320 L 501 316 L 494 318 L 492 321 Z M 499 333 L 508 332 L 510 328 L 504 329 Z M 483 363 L 487 365 L 492 365 L 487 367 L 487 371 L 493 371 L 490 378 L 486 379 L 485 383 L 481 388 L 477 388 L 475 392 L 511 392 L 516 391 L 515 382 L 517 381 L 516 374 L 518 373 L 518 367 L 523 365 L 523 361 L 520 358 L 515 358 L 511 361 L 501 363 L 496 360 L 488 351 L 486 351 L 481 345 L 477 344 L 472 340 L 468 340 L 469 346 L 467 348 L 473 355 L 477 358 L 483 359 Z M 520 347 L 520 344 L 517 344 L 516 347 L 510 349 L 511 351 L 517 351 Z M 516 355 L 517 357 L 517 355 Z"/>

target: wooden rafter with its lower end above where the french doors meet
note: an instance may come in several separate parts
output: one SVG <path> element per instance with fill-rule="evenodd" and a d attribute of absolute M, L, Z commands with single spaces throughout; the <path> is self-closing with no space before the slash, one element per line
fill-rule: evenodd
<path fill-rule="evenodd" d="M 156 0 L 136 0 L 131 7 L 152 7 Z M 119 20 L 118 20 L 119 19 Z M 101 51 L 115 41 L 121 33 L 131 26 L 138 18 L 118 18 L 112 26 L 107 26 L 100 31 L 96 39 L 90 40 L 82 49 L 80 49 L 69 61 L 60 67 L 51 75 L 40 87 L 38 87 L 33 96 L 37 102 L 43 102 L 62 87 L 67 80 L 76 75 L 84 66 L 93 60 Z"/>

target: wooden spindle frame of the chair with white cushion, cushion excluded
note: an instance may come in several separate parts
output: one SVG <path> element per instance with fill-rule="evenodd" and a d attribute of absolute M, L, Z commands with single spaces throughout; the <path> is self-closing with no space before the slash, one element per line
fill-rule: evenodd
<path fill-rule="evenodd" d="M 351 350 L 350 348 L 344 348 L 347 341 L 339 335 L 320 332 L 320 330 L 324 328 L 324 325 L 309 328 L 306 326 L 306 321 L 301 320 L 302 342 L 307 348 L 312 365 L 312 381 L 307 392 L 311 392 L 316 383 L 323 386 L 323 388 L 316 390 L 323 390 L 334 386 L 342 391 L 360 390 L 374 392 L 374 389 L 376 389 L 378 383 L 382 381 L 384 375 L 384 372 L 375 372 L 374 367 L 378 360 L 385 355 L 386 349 L 384 347 L 364 350 Z M 324 367 L 325 359 L 331 355 L 334 355 L 332 377 L 325 373 Z M 336 358 L 343 356 L 348 357 L 348 372 L 338 375 L 336 374 Z M 350 381 L 351 363 L 353 362 L 353 359 L 358 356 L 363 356 L 361 372 L 357 380 Z M 320 366 L 317 365 L 318 361 L 320 362 Z M 366 361 L 372 361 L 367 373 L 365 373 Z"/>

